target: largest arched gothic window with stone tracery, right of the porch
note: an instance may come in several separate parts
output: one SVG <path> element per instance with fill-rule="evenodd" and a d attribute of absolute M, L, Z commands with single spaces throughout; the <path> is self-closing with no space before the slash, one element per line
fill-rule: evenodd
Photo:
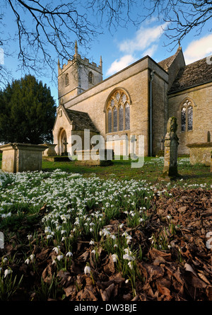
<path fill-rule="evenodd" d="M 115 91 L 107 103 L 107 132 L 130 129 L 129 96 L 123 91 Z"/>

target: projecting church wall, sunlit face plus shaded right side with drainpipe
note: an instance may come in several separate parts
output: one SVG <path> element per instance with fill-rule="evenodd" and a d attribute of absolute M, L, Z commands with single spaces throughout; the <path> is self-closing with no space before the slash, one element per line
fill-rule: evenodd
<path fill-rule="evenodd" d="M 64 98 L 64 106 L 72 110 L 87 112 L 95 127 L 103 137 L 106 133 L 107 101 L 116 89 L 123 89 L 130 98 L 130 130 L 115 132 L 119 137 L 127 135 L 144 136 L 144 154 L 149 154 L 149 114 L 150 114 L 150 73 L 155 71 L 153 79 L 153 155 L 161 149 L 161 139 L 165 135 L 167 115 L 167 73 L 149 57 L 135 62 L 126 69 L 110 76 L 73 98 Z M 69 100 L 69 101 L 68 101 Z M 136 144 L 138 154 L 138 142 Z"/>

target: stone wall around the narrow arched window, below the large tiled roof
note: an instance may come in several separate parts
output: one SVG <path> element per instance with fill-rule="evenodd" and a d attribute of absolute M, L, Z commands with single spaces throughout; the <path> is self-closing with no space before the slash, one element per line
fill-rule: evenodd
<path fill-rule="evenodd" d="M 193 104 L 193 128 L 181 131 L 181 106 L 189 98 Z M 177 136 L 179 154 L 189 154 L 186 144 L 206 142 L 208 131 L 212 134 L 212 84 L 189 88 L 186 91 L 170 94 L 168 98 L 168 116 L 177 118 Z"/>

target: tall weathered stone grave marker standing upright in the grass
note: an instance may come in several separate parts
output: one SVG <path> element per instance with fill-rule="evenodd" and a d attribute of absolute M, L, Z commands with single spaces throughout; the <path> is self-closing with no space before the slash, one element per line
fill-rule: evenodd
<path fill-rule="evenodd" d="M 167 122 L 167 134 L 164 142 L 164 167 L 163 177 L 178 176 L 177 172 L 177 118 L 172 117 Z"/>

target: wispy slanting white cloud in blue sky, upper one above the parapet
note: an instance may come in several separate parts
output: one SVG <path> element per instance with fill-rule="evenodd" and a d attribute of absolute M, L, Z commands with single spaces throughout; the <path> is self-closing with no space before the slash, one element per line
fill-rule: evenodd
<path fill-rule="evenodd" d="M 141 27 L 134 38 L 130 40 L 124 40 L 119 45 L 119 50 L 121 52 L 126 52 L 129 54 L 135 51 L 146 50 L 153 42 L 160 40 L 161 35 L 166 27 L 167 23 L 162 25 L 153 26 L 152 28 Z"/>

